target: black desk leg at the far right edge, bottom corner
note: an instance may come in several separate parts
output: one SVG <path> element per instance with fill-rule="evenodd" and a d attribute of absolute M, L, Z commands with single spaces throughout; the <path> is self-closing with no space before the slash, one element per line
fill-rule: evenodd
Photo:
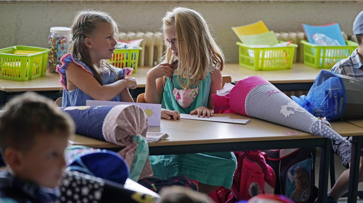
<path fill-rule="evenodd" d="M 352 151 L 350 155 L 349 189 L 348 189 L 349 203 L 357 202 L 361 145 L 362 145 L 362 136 L 354 136 L 352 139 Z"/>

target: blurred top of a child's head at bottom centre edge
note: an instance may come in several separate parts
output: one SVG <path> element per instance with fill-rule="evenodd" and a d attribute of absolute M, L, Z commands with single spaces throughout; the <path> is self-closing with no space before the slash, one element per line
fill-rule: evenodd
<path fill-rule="evenodd" d="M 214 203 L 207 195 L 183 186 L 163 188 L 156 203 Z"/>

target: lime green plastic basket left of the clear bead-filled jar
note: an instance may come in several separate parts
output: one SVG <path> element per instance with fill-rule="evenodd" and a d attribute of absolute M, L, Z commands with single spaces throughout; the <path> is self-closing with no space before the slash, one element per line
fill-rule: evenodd
<path fill-rule="evenodd" d="M 16 55 L 15 51 L 38 53 Z M 50 49 L 34 46 L 11 46 L 0 49 L 0 78 L 26 81 L 45 76 Z"/>

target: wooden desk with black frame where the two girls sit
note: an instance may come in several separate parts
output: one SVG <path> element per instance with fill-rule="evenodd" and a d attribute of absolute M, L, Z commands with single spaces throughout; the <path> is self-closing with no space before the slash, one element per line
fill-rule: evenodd
<path fill-rule="evenodd" d="M 241 125 L 186 119 L 179 121 L 162 119 L 160 127 L 150 127 L 148 131 L 167 133 L 170 137 L 164 141 L 148 143 L 150 155 L 321 147 L 318 202 L 326 202 L 331 151 L 329 139 L 238 114 L 214 114 L 214 116 L 250 119 L 251 121 L 246 125 Z M 343 121 L 333 122 L 332 126 L 343 136 L 363 135 L 362 128 Z M 300 134 L 285 135 L 284 131 L 297 131 Z M 77 135 L 69 143 L 120 150 L 117 145 L 81 135 Z"/>

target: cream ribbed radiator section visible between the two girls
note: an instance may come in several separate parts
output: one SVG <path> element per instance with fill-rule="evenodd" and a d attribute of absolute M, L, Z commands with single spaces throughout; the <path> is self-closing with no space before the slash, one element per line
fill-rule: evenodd
<path fill-rule="evenodd" d="M 162 57 L 164 51 L 164 36 L 161 32 L 120 32 L 118 39 L 121 41 L 129 41 L 136 39 L 144 39 L 141 42 L 142 50 L 139 52 L 138 66 L 154 66 Z"/>

